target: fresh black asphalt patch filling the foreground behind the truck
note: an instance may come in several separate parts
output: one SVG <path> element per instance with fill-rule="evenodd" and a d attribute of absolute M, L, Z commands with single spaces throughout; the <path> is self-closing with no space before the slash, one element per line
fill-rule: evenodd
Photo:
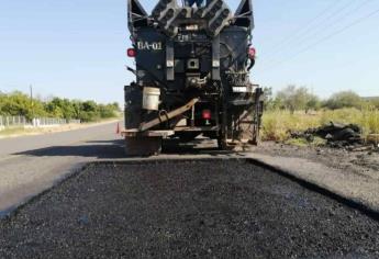
<path fill-rule="evenodd" d="M 0 258 L 378 257 L 378 219 L 244 160 L 93 164 L 0 222 Z"/>

